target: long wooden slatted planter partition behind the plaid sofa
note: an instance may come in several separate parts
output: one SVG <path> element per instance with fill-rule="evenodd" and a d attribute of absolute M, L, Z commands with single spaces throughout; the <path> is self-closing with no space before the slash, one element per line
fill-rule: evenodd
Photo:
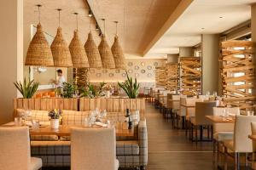
<path fill-rule="evenodd" d="M 145 113 L 145 99 L 125 99 L 125 98 L 79 98 L 79 99 L 62 99 L 62 98 L 42 98 L 42 99 L 14 99 L 15 109 L 31 109 L 39 111 L 50 111 L 56 108 L 61 110 L 72 111 L 91 111 L 96 108 L 111 112 L 124 112 L 126 109 L 131 111 L 139 110 L 141 117 Z M 16 113 L 14 113 L 16 116 Z"/>

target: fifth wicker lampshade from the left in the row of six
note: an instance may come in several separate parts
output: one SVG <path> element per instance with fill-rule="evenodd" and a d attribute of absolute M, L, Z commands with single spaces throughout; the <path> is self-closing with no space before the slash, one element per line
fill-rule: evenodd
<path fill-rule="evenodd" d="M 105 35 L 102 35 L 102 42 L 99 45 L 99 52 L 102 59 L 102 68 L 104 69 L 114 69 L 114 60 L 111 49 L 108 46 Z"/>

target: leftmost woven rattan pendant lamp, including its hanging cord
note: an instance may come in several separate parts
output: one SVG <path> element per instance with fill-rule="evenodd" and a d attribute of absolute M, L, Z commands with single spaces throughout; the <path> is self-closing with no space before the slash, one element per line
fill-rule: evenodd
<path fill-rule="evenodd" d="M 38 26 L 37 32 L 32 37 L 26 53 L 25 65 L 53 66 L 54 61 L 49 48 L 49 43 L 44 37 L 44 31 L 40 23 L 40 7 L 38 6 Z"/>

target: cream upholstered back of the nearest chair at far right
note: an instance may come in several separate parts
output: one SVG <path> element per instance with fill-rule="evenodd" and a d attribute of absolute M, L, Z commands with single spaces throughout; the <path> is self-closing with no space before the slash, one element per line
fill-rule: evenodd
<path fill-rule="evenodd" d="M 253 152 L 251 122 L 256 122 L 256 116 L 236 116 L 234 130 L 234 150 L 236 152 Z"/>

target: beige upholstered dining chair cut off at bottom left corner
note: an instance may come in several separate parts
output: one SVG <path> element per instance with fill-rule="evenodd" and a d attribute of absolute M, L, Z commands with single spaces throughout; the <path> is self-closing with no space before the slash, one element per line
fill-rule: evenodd
<path fill-rule="evenodd" d="M 31 157 L 28 127 L 0 127 L 0 169 L 38 170 L 40 158 Z"/>

